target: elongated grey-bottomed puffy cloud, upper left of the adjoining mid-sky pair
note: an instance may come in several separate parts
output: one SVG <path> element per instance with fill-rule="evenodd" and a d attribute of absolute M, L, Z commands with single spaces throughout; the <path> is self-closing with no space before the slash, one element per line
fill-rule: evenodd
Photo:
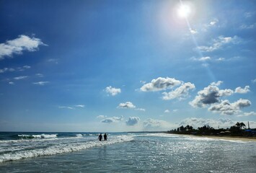
<path fill-rule="evenodd" d="M 159 77 L 157 79 L 153 79 L 150 83 L 144 84 L 141 86 L 142 92 L 156 92 L 162 91 L 165 89 L 173 88 L 174 86 L 180 85 L 181 81 L 176 80 L 174 78 L 162 78 Z"/>

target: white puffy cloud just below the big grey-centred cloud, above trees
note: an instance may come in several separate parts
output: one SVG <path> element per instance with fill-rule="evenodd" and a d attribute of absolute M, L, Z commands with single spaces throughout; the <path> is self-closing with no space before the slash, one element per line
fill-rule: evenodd
<path fill-rule="evenodd" d="M 208 110 L 213 112 L 220 112 L 221 115 L 234 115 L 240 112 L 243 107 L 248 107 L 251 105 L 248 99 L 239 99 L 237 102 L 230 103 L 229 100 L 225 99 L 217 105 L 212 105 Z"/>

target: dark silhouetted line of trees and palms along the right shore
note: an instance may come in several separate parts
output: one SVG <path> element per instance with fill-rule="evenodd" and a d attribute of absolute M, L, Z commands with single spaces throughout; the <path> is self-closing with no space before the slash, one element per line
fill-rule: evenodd
<path fill-rule="evenodd" d="M 255 133 L 253 133 L 255 132 Z M 192 135 L 218 135 L 218 136 L 256 136 L 256 129 L 248 130 L 244 123 L 237 122 L 230 128 L 215 129 L 209 125 L 203 125 L 197 129 L 191 125 L 181 125 L 177 129 L 169 130 L 168 133 L 176 134 L 192 134 Z"/>

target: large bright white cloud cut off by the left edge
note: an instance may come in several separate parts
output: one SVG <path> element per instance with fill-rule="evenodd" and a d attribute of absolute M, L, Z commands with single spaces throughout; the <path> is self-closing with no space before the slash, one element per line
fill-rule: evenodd
<path fill-rule="evenodd" d="M 0 59 L 4 59 L 4 56 L 22 54 L 25 50 L 30 52 L 35 51 L 39 45 L 45 45 L 39 38 L 19 35 L 14 40 L 7 40 L 6 43 L 0 43 Z"/>

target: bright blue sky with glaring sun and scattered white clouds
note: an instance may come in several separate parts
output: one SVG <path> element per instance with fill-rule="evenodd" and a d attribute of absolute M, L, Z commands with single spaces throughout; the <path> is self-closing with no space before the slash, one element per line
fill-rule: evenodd
<path fill-rule="evenodd" d="M 256 128 L 255 9 L 0 0 L 0 131 Z"/>

